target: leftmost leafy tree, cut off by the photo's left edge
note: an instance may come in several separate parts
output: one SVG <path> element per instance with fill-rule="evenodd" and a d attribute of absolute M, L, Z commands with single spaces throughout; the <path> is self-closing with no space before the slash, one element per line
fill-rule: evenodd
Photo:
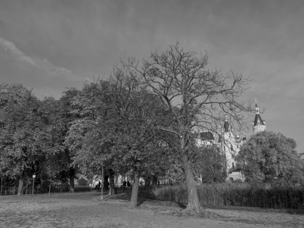
<path fill-rule="evenodd" d="M 39 111 L 41 102 L 21 84 L 0 85 L 0 172 L 23 181 L 39 171 L 47 154 L 53 153 L 50 132 Z"/>

